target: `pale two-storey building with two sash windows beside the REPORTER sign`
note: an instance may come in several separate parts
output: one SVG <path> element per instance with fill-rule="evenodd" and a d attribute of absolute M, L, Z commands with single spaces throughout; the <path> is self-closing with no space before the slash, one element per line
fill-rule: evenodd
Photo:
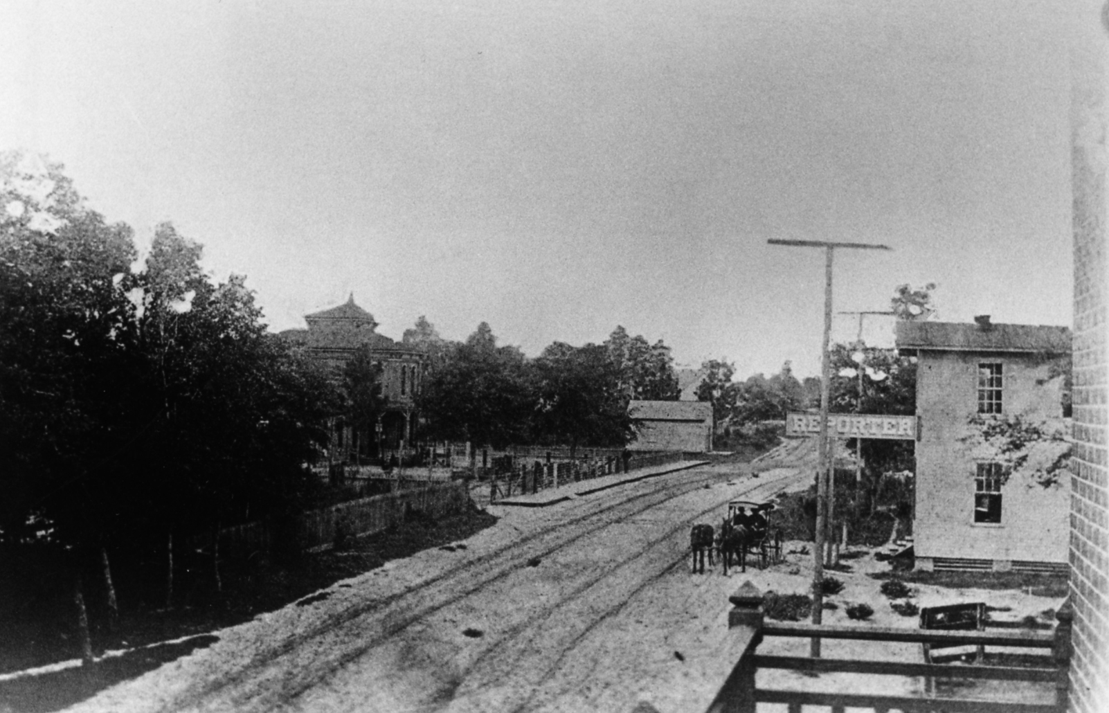
<path fill-rule="evenodd" d="M 903 322 L 917 357 L 919 569 L 1066 570 L 1066 327 Z"/>

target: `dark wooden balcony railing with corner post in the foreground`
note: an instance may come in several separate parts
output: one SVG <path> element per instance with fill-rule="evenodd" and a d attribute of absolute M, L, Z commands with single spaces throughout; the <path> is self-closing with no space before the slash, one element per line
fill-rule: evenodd
<path fill-rule="evenodd" d="M 790 713 L 800 712 L 803 705 L 831 706 L 833 712 L 846 707 L 863 707 L 878 712 L 901 711 L 965 711 L 967 713 L 1022 712 L 1060 713 L 1067 710 L 1068 665 L 1070 661 L 1069 604 L 1056 614 L 1058 624 L 1051 633 L 1042 631 L 934 631 L 925 629 L 892 629 L 877 627 L 847 627 L 800 624 L 765 621 L 762 593 L 745 582 L 729 598 L 733 609 L 729 612 L 729 629 L 737 639 L 740 661 L 716 694 L 709 713 L 755 713 L 759 703 L 786 704 Z M 946 665 L 935 663 L 902 663 L 894 661 L 863 661 L 855 659 L 814 659 L 807 656 L 761 655 L 756 652 L 764 636 L 803 636 L 806 639 L 854 639 L 864 641 L 918 642 L 939 645 L 995 645 L 1049 649 L 1044 656 L 1051 665 L 1035 668 L 998 665 Z M 984 701 L 963 697 L 926 697 L 908 695 L 873 695 L 760 689 L 755 674 L 760 669 L 785 669 L 810 673 L 848 672 L 872 675 L 924 676 L 929 679 L 976 679 L 993 681 L 1035 681 L 1055 684 L 1055 701 L 1049 704 Z"/>

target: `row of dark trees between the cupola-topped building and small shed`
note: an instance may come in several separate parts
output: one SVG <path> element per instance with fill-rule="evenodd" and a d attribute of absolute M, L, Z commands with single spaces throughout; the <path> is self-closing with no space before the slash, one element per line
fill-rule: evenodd
<path fill-rule="evenodd" d="M 420 317 L 405 340 L 431 357 L 417 406 L 435 439 L 622 446 L 634 437 L 631 399 L 679 394 L 670 348 L 623 327 L 602 345 L 556 342 L 533 359 L 497 346 L 486 323 L 459 344 Z"/>

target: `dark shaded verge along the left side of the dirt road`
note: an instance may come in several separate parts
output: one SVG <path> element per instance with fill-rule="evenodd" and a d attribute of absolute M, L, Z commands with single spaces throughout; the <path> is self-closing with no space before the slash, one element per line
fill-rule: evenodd
<path fill-rule="evenodd" d="M 120 681 L 211 645 L 210 632 L 232 627 L 296 601 L 339 580 L 381 567 L 421 550 L 449 547 L 494 524 L 497 518 L 477 508 L 439 520 L 416 512 L 384 532 L 352 538 L 334 550 L 305 554 L 278 564 L 264 558 L 223 564 L 223 589 L 195 587 L 186 603 L 173 609 L 149 607 L 125 611 L 114 630 L 93 632 L 98 662 L 90 671 L 75 665 L 80 656 L 70 622 L 41 617 L 12 617 L 0 636 L 0 711 L 57 711 Z M 307 598 L 307 599 L 306 599 Z M 64 613 L 64 612 L 63 612 Z M 21 675 L 38 669 L 32 675 Z"/>

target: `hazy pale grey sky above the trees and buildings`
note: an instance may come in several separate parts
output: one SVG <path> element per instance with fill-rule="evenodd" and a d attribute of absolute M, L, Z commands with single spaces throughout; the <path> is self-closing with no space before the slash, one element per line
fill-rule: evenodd
<path fill-rule="evenodd" d="M 1006 0 L 8 2 L 0 149 L 172 221 L 274 329 L 349 293 L 394 338 L 530 355 L 621 324 L 820 370 L 835 309 L 1070 324 L 1066 19 Z M 888 325 L 871 327 L 888 333 Z M 857 318 L 838 317 L 853 338 Z"/>

